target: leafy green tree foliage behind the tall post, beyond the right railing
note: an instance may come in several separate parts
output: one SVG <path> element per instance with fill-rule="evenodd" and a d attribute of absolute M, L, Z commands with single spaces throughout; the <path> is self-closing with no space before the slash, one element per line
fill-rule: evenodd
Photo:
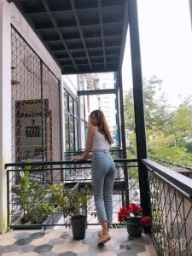
<path fill-rule="evenodd" d="M 192 144 L 192 106 L 186 103 L 172 113 L 172 106 L 167 104 L 161 85 L 162 80 L 156 76 L 143 79 L 148 155 L 191 166 L 189 145 Z M 125 94 L 125 129 L 130 142 L 127 155 L 131 158 L 137 155 L 132 90 Z"/>

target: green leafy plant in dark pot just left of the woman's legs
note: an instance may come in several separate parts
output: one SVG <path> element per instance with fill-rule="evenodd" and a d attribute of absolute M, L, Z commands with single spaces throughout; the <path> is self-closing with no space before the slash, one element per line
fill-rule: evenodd
<path fill-rule="evenodd" d="M 49 185 L 53 193 L 54 204 L 60 207 L 64 218 L 69 217 L 72 225 L 73 239 L 84 239 L 86 230 L 86 208 L 90 200 L 90 189 L 85 186 L 78 189 L 66 189 L 64 184 Z"/>

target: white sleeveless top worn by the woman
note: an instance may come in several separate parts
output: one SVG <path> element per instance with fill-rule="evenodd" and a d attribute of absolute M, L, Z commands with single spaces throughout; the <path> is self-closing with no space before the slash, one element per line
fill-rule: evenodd
<path fill-rule="evenodd" d="M 107 149 L 109 150 L 109 143 L 107 138 L 98 131 L 98 127 L 96 127 L 96 131 L 93 135 L 93 143 L 92 143 L 92 151 L 95 149 Z"/>

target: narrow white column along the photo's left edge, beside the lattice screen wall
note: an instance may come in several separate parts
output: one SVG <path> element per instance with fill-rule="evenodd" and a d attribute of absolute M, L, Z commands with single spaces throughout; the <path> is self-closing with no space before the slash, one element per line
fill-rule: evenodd
<path fill-rule="evenodd" d="M 0 233 L 7 229 L 7 181 L 11 161 L 11 35 L 9 3 L 0 0 Z"/>

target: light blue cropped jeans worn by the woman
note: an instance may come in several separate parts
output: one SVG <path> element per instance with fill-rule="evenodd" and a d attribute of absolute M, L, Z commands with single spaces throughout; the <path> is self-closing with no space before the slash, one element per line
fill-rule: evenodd
<path fill-rule="evenodd" d="M 96 205 L 97 218 L 100 222 L 113 221 L 113 183 L 115 166 L 108 150 L 96 149 L 92 154 L 92 189 Z"/>

